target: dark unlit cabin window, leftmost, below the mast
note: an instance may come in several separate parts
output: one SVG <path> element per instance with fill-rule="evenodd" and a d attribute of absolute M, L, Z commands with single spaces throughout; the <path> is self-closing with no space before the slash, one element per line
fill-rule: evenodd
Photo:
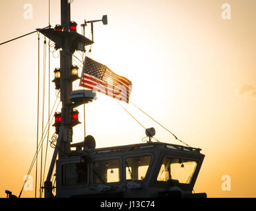
<path fill-rule="evenodd" d="M 64 186 L 85 185 L 87 183 L 88 170 L 86 164 L 65 164 L 63 170 L 65 175 Z"/>

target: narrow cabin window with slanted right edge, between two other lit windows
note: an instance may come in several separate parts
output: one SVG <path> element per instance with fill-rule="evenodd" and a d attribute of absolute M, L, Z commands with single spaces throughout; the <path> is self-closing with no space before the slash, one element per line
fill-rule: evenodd
<path fill-rule="evenodd" d="M 126 179 L 127 180 L 143 180 L 150 164 L 151 156 L 140 156 L 135 158 L 127 158 L 125 160 Z"/>

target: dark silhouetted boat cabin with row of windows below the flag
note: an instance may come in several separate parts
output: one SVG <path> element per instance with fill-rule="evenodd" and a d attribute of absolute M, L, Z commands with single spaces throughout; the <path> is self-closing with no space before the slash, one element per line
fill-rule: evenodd
<path fill-rule="evenodd" d="M 163 142 L 71 146 L 75 150 L 56 162 L 56 197 L 206 197 L 192 194 L 205 157 L 199 148 Z"/>

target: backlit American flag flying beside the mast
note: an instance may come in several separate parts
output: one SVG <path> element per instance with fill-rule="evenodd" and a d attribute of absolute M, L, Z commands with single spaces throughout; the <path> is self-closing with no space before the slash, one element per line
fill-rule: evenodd
<path fill-rule="evenodd" d="M 113 73 L 106 65 L 85 57 L 80 86 L 128 104 L 132 83 L 127 78 Z"/>

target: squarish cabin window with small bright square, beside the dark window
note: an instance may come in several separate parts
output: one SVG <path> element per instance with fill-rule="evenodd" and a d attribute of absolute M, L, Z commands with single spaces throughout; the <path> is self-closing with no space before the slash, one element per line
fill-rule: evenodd
<path fill-rule="evenodd" d="M 93 181 L 96 184 L 118 183 L 120 181 L 119 159 L 94 162 Z"/>

